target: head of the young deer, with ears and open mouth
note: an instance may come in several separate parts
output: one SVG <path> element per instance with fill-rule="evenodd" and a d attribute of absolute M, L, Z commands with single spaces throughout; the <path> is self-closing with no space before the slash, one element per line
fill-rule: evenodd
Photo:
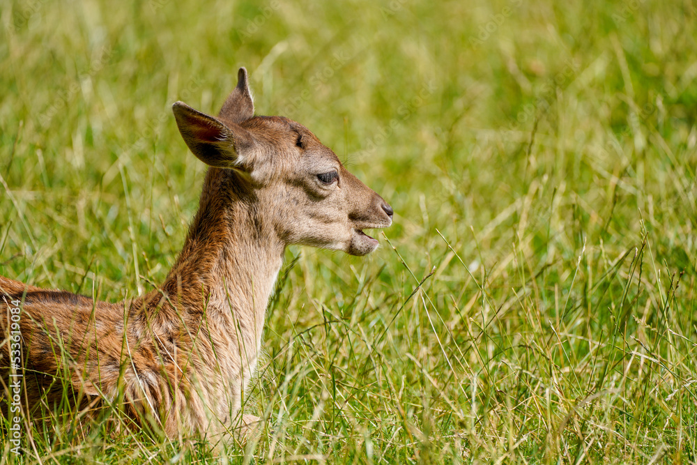
<path fill-rule="evenodd" d="M 210 167 L 234 171 L 229 189 L 254 204 L 263 227 L 284 245 L 365 255 L 378 241 L 363 230 L 392 224 L 387 202 L 305 126 L 283 116 L 254 116 L 245 68 L 217 117 L 183 102 L 173 111 L 192 153 Z"/>

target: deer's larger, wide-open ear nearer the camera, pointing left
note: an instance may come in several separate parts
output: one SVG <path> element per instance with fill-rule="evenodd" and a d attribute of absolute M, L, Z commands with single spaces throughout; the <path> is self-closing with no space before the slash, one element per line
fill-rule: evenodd
<path fill-rule="evenodd" d="M 240 168 L 245 148 L 252 145 L 249 131 L 234 123 L 226 125 L 184 102 L 175 102 L 172 111 L 181 137 L 199 160 L 216 168 Z"/>

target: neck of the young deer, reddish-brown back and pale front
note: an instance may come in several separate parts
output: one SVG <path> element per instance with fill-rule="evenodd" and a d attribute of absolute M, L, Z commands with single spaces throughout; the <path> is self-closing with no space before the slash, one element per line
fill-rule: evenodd
<path fill-rule="evenodd" d="M 258 345 L 285 244 L 249 183 L 231 169 L 208 169 L 199 211 L 162 290 L 189 314 L 231 317 L 238 328 L 227 329 L 247 332 Z"/>

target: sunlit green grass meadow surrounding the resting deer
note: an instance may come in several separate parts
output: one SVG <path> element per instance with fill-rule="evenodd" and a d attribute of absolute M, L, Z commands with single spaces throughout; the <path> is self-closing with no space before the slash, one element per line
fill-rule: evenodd
<path fill-rule="evenodd" d="M 3 275 L 112 301 L 160 282 L 205 169 L 170 105 L 217 112 L 239 66 L 258 114 L 307 125 L 394 207 L 367 259 L 286 252 L 250 402 L 270 430 L 230 462 L 697 463 L 691 1 L 33 0 L 0 19 Z M 70 418 L 23 447 L 212 457 Z"/>

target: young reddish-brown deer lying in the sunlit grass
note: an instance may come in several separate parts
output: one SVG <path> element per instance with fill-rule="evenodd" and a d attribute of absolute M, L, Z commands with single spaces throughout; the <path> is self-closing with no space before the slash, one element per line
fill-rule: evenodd
<path fill-rule="evenodd" d="M 245 68 L 217 116 L 181 101 L 172 110 L 186 146 L 208 165 L 174 266 L 161 285 L 121 303 L 0 275 L 5 416 L 21 371 L 29 416 L 66 398 L 88 411 L 120 402 L 125 418 L 171 439 L 244 441 L 263 422 L 242 401 L 286 247 L 363 256 L 378 247 L 364 230 L 392 224 L 390 205 L 305 126 L 254 115 Z"/>

